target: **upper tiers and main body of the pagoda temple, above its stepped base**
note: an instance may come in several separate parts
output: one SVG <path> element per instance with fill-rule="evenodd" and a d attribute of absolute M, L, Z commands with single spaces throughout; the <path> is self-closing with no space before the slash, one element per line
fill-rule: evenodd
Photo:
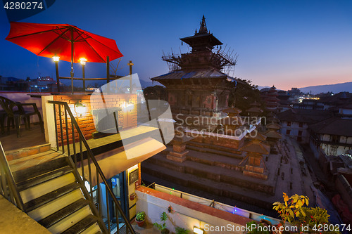
<path fill-rule="evenodd" d="M 181 41 L 191 47 L 191 52 L 163 56 L 170 65 L 170 73 L 151 80 L 160 82 L 168 90 L 168 103 L 176 121 L 195 116 L 219 117 L 221 110 L 228 108 L 230 89 L 235 83 L 234 78 L 223 71 L 234 67 L 237 57 L 215 48 L 221 48 L 222 42 L 208 32 L 204 15 L 199 31 Z M 193 128 L 211 130 L 215 126 L 216 122 L 203 121 Z"/>

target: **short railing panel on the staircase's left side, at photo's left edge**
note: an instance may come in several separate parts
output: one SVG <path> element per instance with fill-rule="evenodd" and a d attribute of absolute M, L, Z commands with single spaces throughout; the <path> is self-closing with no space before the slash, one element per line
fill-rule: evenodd
<path fill-rule="evenodd" d="M 0 142 L 0 195 L 3 195 L 8 201 L 15 204 L 19 209 L 24 211 L 23 201 L 20 193 L 15 186 L 15 181 L 11 173 L 10 167 L 6 160 L 4 148 Z"/>

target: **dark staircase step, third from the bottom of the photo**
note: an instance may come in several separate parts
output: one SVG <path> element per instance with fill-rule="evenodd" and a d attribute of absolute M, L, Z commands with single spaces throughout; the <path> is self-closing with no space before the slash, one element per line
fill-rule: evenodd
<path fill-rule="evenodd" d="M 65 195 L 67 193 L 70 193 L 71 191 L 73 191 L 77 188 L 80 188 L 79 183 L 70 183 L 67 186 L 63 186 L 61 188 L 58 188 L 57 190 L 54 190 L 50 193 L 46 193 L 46 195 L 42 195 L 41 197 L 37 197 L 36 199 L 25 203 L 25 211 L 30 212 L 33 209 L 37 209 L 38 207 L 42 206 L 43 204 L 51 202 L 51 201 L 55 200 L 56 198 L 61 197 L 62 195 Z"/>

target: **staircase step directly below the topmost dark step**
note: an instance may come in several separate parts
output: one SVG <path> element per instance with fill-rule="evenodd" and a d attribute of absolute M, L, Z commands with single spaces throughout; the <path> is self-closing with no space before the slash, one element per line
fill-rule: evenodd
<path fill-rule="evenodd" d="M 44 183 L 46 181 L 49 181 L 53 178 L 57 178 L 58 176 L 63 176 L 64 174 L 68 174 L 71 171 L 73 171 L 73 169 L 70 168 L 69 166 L 62 167 L 62 168 L 56 169 L 54 171 L 50 171 L 49 173 L 42 174 L 37 177 L 29 178 L 27 181 L 21 181 L 20 183 L 17 183 L 17 188 L 19 191 L 22 191 L 27 188 L 37 186 L 40 183 Z"/>

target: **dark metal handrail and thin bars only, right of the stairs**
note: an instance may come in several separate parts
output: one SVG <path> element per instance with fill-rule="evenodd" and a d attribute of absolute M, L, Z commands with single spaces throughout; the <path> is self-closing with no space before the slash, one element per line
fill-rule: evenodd
<path fill-rule="evenodd" d="M 91 148 L 89 147 L 88 143 L 87 143 L 87 140 L 86 138 L 84 137 L 84 135 L 82 134 L 82 131 L 80 129 L 80 126 L 78 126 L 77 122 L 76 122 L 76 119 L 75 117 L 73 116 L 73 113 L 71 112 L 69 106 L 68 106 L 68 103 L 66 102 L 63 102 L 63 101 L 55 101 L 55 100 L 48 100 L 48 103 L 51 103 L 51 104 L 54 104 L 54 120 L 55 120 L 55 123 L 56 123 L 56 112 L 55 112 L 55 105 L 58 105 L 59 107 L 59 118 L 60 118 L 60 127 L 61 127 L 61 144 L 62 144 L 62 149 L 63 149 L 63 152 L 65 152 L 65 148 L 64 148 L 64 145 L 63 145 L 63 126 L 62 126 L 62 117 L 61 117 L 61 105 L 63 105 L 64 107 L 64 111 L 65 111 L 65 126 L 66 126 L 66 143 L 67 143 L 67 149 L 68 149 L 68 155 L 70 156 L 70 147 L 69 147 L 69 138 L 68 138 L 68 121 L 67 121 L 67 114 L 70 116 L 70 119 L 71 119 L 71 124 L 73 124 L 73 126 L 75 126 L 75 129 L 77 130 L 77 133 L 78 133 L 78 136 L 79 136 L 79 141 L 80 141 L 80 161 L 83 162 L 83 156 L 82 156 L 82 143 L 84 145 L 84 147 L 86 148 L 87 150 L 87 162 L 88 162 L 88 169 L 89 169 L 89 179 L 90 181 L 92 181 L 92 171 L 91 170 L 91 167 L 90 167 L 90 160 L 92 160 L 92 162 L 94 163 L 94 166 L 96 167 L 96 180 L 97 180 L 97 185 L 98 185 L 98 190 L 99 190 L 99 176 L 100 178 L 102 179 L 103 183 L 105 183 L 105 186 L 106 186 L 106 192 L 108 192 L 109 195 L 111 195 L 112 199 L 113 199 L 113 202 L 115 203 L 115 208 L 118 209 L 118 212 L 120 212 L 121 216 L 122 216 L 122 219 L 124 219 L 125 221 L 125 224 L 127 226 L 127 229 L 126 229 L 126 232 L 127 230 L 130 230 L 130 232 L 132 234 L 135 234 L 133 228 L 132 228 L 132 225 L 130 223 L 130 221 L 128 221 L 127 217 L 125 216 L 125 214 L 123 213 L 122 211 L 122 208 L 120 207 L 120 203 L 118 202 L 118 200 L 116 199 L 114 193 L 113 193 L 113 188 L 111 188 L 110 186 L 110 183 L 108 183 L 105 175 L 103 174 L 103 171 L 101 170 L 101 167 L 99 166 L 99 163 L 96 161 L 96 158 L 94 157 L 94 153 L 92 152 Z M 76 157 L 76 152 L 75 152 L 75 131 L 73 129 L 73 126 L 72 126 L 72 132 L 71 134 L 73 134 L 73 155 L 74 155 L 74 159 L 75 159 L 75 166 L 76 166 L 76 169 L 77 169 L 77 157 Z M 56 143 L 58 143 L 58 134 L 57 134 L 57 126 L 55 126 L 56 128 Z M 59 148 L 59 145 L 57 144 L 57 149 Z M 83 166 L 83 163 L 81 163 L 81 167 L 82 167 L 82 177 L 84 178 L 84 166 Z M 90 193 L 91 193 L 91 199 L 92 199 L 92 184 L 90 184 Z M 100 191 L 100 190 L 99 190 Z M 97 195 L 99 196 L 99 200 L 100 200 L 100 192 L 98 191 Z M 108 207 L 108 202 L 107 202 L 107 209 L 109 209 Z M 101 214 L 101 207 L 99 207 L 99 212 Z M 108 210 L 109 212 L 109 210 Z M 117 222 L 118 222 L 118 212 L 116 212 L 116 219 L 117 219 Z M 109 229 L 109 232 L 110 232 L 110 217 L 108 216 L 108 229 Z M 119 227 L 117 226 L 117 230 L 119 230 Z"/>

